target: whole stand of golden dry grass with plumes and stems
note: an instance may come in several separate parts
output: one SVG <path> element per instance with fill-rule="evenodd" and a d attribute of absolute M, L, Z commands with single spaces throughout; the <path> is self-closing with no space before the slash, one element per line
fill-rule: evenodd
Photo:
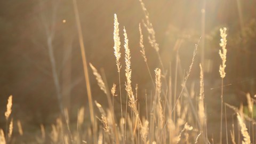
<path fill-rule="evenodd" d="M 74 0 L 75 2 L 75 0 Z M 146 48 L 144 46 L 143 31 L 140 23 L 138 23 L 138 33 L 140 33 L 140 52 L 141 57 L 145 62 L 147 70 L 145 73 L 149 73 L 150 81 L 154 85 L 153 89 L 147 90 L 151 92 L 151 95 L 138 96 L 138 87 L 132 86 L 132 69 L 131 59 L 132 55 L 129 47 L 129 34 L 125 27 L 119 31 L 119 23 L 117 15 L 114 14 L 114 56 L 116 58 L 117 74 L 119 81 L 114 82 L 111 88 L 107 85 L 107 78 L 104 74 L 100 74 L 97 68 L 92 63 L 87 63 L 85 56 L 85 49 L 83 45 L 83 36 L 81 33 L 81 26 L 79 25 L 79 15 L 75 3 L 76 22 L 79 34 L 79 42 L 81 44 L 81 53 L 83 57 L 84 74 L 87 85 L 87 95 L 89 99 L 89 111 L 91 123 L 89 127 L 84 126 L 84 117 L 89 114 L 84 114 L 85 109 L 81 108 L 77 112 L 77 124 L 71 126 L 69 122 L 69 111 L 63 109 L 60 118 L 57 119 L 55 124 L 52 124 L 51 133 L 45 131 L 45 127 L 41 125 L 41 137 L 37 137 L 37 143 L 254 143 L 255 142 L 255 100 L 251 98 L 250 94 L 247 94 L 248 111 L 244 113 L 243 107 L 236 108 L 232 106 L 232 103 L 225 103 L 223 100 L 223 81 L 226 76 L 226 60 L 227 60 L 227 28 L 220 29 L 220 47 L 219 51 L 222 63 L 220 63 L 220 78 L 222 81 L 221 95 L 215 97 L 221 100 L 220 114 L 220 140 L 216 141 L 214 138 L 210 138 L 210 134 L 207 133 L 207 103 L 204 99 L 207 95 L 204 94 L 204 66 L 199 65 L 199 90 L 197 95 L 195 92 L 190 92 L 187 87 L 187 81 L 190 73 L 195 65 L 195 57 L 197 48 L 200 43 L 195 45 L 193 58 L 191 59 L 190 66 L 187 68 L 187 72 L 183 77 L 181 83 L 181 91 L 178 92 L 177 80 L 173 82 L 171 70 L 165 69 L 162 64 L 162 60 L 159 54 L 159 45 L 156 42 L 155 31 L 152 23 L 149 20 L 149 13 L 140 0 L 141 7 L 145 13 L 145 19 L 142 25 L 147 30 L 148 42 L 154 48 L 159 60 L 159 67 L 154 68 L 155 74 L 150 72 L 150 68 L 147 61 Z M 80 33 L 79 33 L 80 31 Z M 124 35 L 124 45 L 121 46 L 121 38 L 119 34 Z M 121 53 L 121 49 L 124 49 L 125 53 Z M 125 60 L 125 66 L 121 65 L 120 60 Z M 108 107 L 102 107 L 102 103 L 93 101 L 93 94 L 90 92 L 89 81 L 89 69 L 90 66 L 93 75 L 95 76 L 98 85 L 103 93 L 106 94 L 105 98 Z M 113 63 L 115 65 L 115 63 Z M 174 70 L 176 75 L 174 79 L 177 79 L 178 62 L 176 63 L 176 69 Z M 121 72 L 125 72 L 126 79 L 121 79 Z M 125 91 L 122 91 L 121 84 L 125 83 Z M 118 84 L 117 84 L 118 83 Z M 194 90 L 192 90 L 194 91 Z M 124 94 L 125 93 L 125 94 Z M 114 97 L 119 97 L 120 105 L 114 105 Z M 145 105 L 141 105 L 138 97 L 145 98 Z M 122 101 L 125 99 L 125 105 L 122 105 Z M 95 109 L 98 108 L 98 109 Z M 120 111 L 121 115 L 115 114 L 116 109 Z M 225 108 L 225 112 L 223 110 Z M 237 117 L 237 125 L 239 131 L 233 129 L 227 129 L 227 115 L 226 108 L 234 110 L 234 114 Z M 143 109 L 143 110 L 142 110 Z M 101 115 L 95 115 L 95 111 L 99 111 Z M 7 102 L 7 108 L 5 113 L 6 129 L 0 130 L 0 143 L 12 142 L 13 131 L 13 119 L 10 118 L 12 112 L 12 96 L 9 97 Z M 226 121 L 225 121 L 226 120 Z M 222 124 L 225 122 L 225 124 Z M 17 122 L 19 134 L 23 134 L 22 126 L 20 122 Z M 218 125 L 219 126 L 219 125 Z M 246 128 L 250 127 L 250 131 Z M 76 129 L 74 129 L 76 127 Z M 226 127 L 224 129 L 224 127 Z M 72 129 L 71 129 L 72 128 Z M 222 131 L 225 130 L 225 131 Z M 223 133 L 225 132 L 225 134 Z M 47 139 L 47 135 L 50 135 Z M 222 140 L 225 137 L 226 141 Z"/>

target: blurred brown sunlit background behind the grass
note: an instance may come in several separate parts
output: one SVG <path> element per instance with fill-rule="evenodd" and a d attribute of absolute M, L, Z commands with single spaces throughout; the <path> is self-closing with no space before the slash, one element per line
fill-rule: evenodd
<path fill-rule="evenodd" d="M 256 94 L 256 1 L 143 2 L 156 32 L 156 41 L 159 43 L 159 53 L 165 69 L 172 71 L 175 68 L 177 53 L 179 54 L 179 82 L 189 68 L 195 44 L 201 37 L 188 86 L 198 81 L 198 63 L 202 62 L 205 70 L 205 98 L 209 119 L 213 118 L 214 121 L 214 117 L 219 113 L 219 107 L 216 109 L 215 106 L 211 106 L 219 105 L 217 99 L 220 97 L 219 28 L 228 28 L 225 78 L 225 85 L 228 86 L 224 90 L 228 98 L 225 100 L 234 106 L 239 106 L 240 102 L 246 105 L 245 93 L 250 92 L 252 96 Z M 134 86 L 138 84 L 141 97 L 145 95 L 145 89 L 151 90 L 153 85 L 139 47 L 139 23 L 145 18 L 140 2 L 77 0 L 77 4 L 87 61 L 99 71 L 105 71 L 109 86 L 118 83 L 113 49 L 116 13 L 122 43 L 121 79 L 125 79 L 125 26 L 132 53 L 132 83 Z M 28 135 L 39 131 L 40 124 L 47 127 L 55 122 L 59 116 L 58 95 L 61 95 L 63 105 L 69 110 L 71 123 L 76 123 L 77 109 L 82 106 L 87 109 L 85 120 L 89 122 L 73 2 L 9 0 L 0 1 L 0 6 L 0 127 L 5 127 L 4 112 L 9 95 L 13 95 L 12 117 L 14 121 L 20 119 Z M 147 41 L 147 30 L 141 26 L 148 65 L 154 74 L 154 69 L 159 66 L 158 57 Z M 174 76 L 174 72 L 172 75 Z M 90 81 L 93 100 L 107 106 L 106 96 L 99 89 L 91 70 Z M 198 89 L 196 91 L 198 92 Z M 214 122 L 211 123 L 209 120 L 209 125 L 211 124 L 214 125 Z"/>

